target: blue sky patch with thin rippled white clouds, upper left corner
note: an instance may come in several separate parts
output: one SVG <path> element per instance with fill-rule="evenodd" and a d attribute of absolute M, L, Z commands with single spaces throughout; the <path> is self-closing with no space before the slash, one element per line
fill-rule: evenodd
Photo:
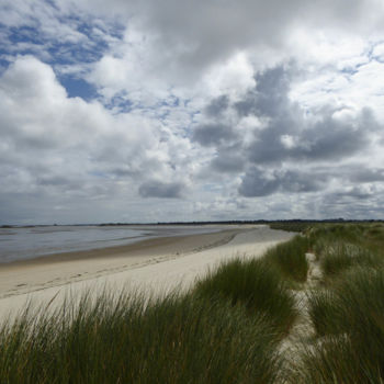
<path fill-rule="evenodd" d="M 114 19 L 94 18 L 60 0 L 5 1 L 0 14 L 0 72 L 30 55 L 49 64 L 71 95 L 94 97 L 84 76 L 120 41 L 122 26 Z"/>

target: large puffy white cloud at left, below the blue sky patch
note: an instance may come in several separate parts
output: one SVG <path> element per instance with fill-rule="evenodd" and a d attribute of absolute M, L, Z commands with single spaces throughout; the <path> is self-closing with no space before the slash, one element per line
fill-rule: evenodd
<path fill-rule="evenodd" d="M 56 185 L 72 191 L 77 185 L 92 194 L 103 183 L 103 193 L 113 193 L 111 180 L 122 180 L 124 190 L 127 180 L 144 173 L 174 173 L 168 143 L 182 146 L 183 139 L 161 142 L 162 127 L 155 120 L 114 115 L 95 101 L 68 98 L 52 68 L 33 57 L 19 57 L 3 74 L 0 100 L 0 169 L 12 178 L 10 190 Z"/>

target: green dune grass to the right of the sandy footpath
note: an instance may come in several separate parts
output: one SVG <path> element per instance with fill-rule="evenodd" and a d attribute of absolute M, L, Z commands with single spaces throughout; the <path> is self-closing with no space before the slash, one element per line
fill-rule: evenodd
<path fill-rule="evenodd" d="M 384 382 L 384 226 L 321 226 L 321 280 L 306 293 L 312 339 L 302 342 L 300 383 Z"/>

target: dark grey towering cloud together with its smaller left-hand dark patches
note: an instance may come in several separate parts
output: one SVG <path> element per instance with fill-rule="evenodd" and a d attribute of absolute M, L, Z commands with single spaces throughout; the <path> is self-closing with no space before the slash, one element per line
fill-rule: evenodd
<path fill-rule="evenodd" d="M 214 108 L 217 123 L 197 126 L 192 137 L 202 146 L 217 149 L 211 162 L 213 171 L 240 172 L 250 165 L 276 168 L 286 162 L 329 163 L 366 153 L 372 134 L 381 129 L 372 111 L 362 108 L 353 120 L 342 120 L 335 117 L 342 108 L 326 105 L 315 117 L 308 116 L 289 97 L 290 81 L 296 71 L 292 63 L 267 69 L 256 74 L 256 87 L 242 100 L 228 104 L 224 95 L 225 102 L 218 98 L 208 104 L 208 108 L 219 105 Z M 231 109 L 238 115 L 233 125 L 221 117 L 225 109 Z M 241 136 L 238 126 L 245 116 L 266 122 L 262 128 L 251 129 L 251 140 Z M 267 187 L 267 190 L 272 188 L 270 183 Z"/>

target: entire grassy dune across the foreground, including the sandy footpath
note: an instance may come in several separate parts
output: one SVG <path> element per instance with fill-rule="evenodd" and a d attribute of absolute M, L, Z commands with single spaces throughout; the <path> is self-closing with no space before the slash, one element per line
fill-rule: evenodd
<path fill-rule="evenodd" d="M 383 260 L 383 224 L 321 224 L 188 292 L 27 307 L 0 383 L 384 383 Z"/>

